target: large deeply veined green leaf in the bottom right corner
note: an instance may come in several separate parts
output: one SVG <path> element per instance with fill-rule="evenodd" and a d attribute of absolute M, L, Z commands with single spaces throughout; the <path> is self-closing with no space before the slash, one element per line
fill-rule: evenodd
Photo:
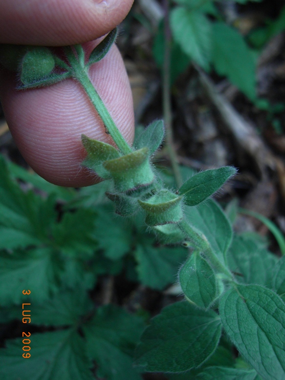
<path fill-rule="evenodd" d="M 285 304 L 260 285 L 235 285 L 220 299 L 223 327 L 265 380 L 285 379 Z"/>

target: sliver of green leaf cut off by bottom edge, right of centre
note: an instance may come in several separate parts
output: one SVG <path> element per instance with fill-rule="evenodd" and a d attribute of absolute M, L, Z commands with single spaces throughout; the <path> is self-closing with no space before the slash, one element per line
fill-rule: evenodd
<path fill-rule="evenodd" d="M 258 380 L 260 377 L 255 370 L 245 371 L 237 368 L 208 367 L 202 370 L 197 380 Z M 261 379 L 260 379 L 261 380 Z"/>

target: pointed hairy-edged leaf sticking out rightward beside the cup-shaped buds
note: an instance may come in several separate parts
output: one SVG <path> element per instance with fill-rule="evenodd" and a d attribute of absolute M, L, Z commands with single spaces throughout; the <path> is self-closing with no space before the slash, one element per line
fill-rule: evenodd
<path fill-rule="evenodd" d="M 214 194 L 237 170 L 230 166 L 201 171 L 186 181 L 179 189 L 187 206 L 196 206 Z"/>

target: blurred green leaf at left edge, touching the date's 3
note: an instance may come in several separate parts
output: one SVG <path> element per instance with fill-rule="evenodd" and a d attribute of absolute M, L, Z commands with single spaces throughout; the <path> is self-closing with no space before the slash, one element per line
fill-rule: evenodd
<path fill-rule="evenodd" d="M 0 252 L 0 304 L 19 304 L 27 299 L 43 302 L 58 289 L 63 263 L 57 252 L 48 248 Z"/>

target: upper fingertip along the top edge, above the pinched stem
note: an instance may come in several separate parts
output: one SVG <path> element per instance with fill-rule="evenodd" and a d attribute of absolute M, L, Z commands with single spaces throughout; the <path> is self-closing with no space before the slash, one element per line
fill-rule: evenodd
<path fill-rule="evenodd" d="M 63 46 L 99 38 L 127 16 L 133 0 L 3 0 L 0 42 Z"/>

